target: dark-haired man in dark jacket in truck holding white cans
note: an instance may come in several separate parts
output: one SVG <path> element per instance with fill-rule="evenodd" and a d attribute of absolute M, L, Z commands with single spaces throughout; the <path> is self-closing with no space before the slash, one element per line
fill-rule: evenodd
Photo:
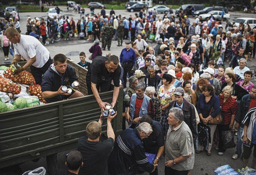
<path fill-rule="evenodd" d="M 76 90 L 79 86 L 78 77 L 74 67 L 67 64 L 67 57 L 62 53 L 56 54 L 53 62 L 43 75 L 41 84 L 45 100 L 47 102 L 54 102 L 84 96 Z M 77 86 L 72 87 L 69 91 L 67 88 L 70 88 L 73 82 L 77 82 Z M 64 86 L 67 88 L 65 89 Z"/>

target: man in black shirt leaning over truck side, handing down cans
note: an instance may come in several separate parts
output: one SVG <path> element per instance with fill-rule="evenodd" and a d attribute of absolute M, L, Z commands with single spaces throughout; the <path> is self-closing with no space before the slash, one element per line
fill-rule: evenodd
<path fill-rule="evenodd" d="M 119 82 L 121 67 L 119 66 L 118 56 L 111 54 L 110 56 L 96 56 L 90 65 L 86 75 L 86 83 L 88 94 L 94 94 L 101 111 L 106 110 L 105 105 L 108 104 L 101 100 L 100 92 L 110 90 L 111 81 L 114 83 L 114 92 L 111 107 L 114 107 L 117 96 L 119 94 Z"/>

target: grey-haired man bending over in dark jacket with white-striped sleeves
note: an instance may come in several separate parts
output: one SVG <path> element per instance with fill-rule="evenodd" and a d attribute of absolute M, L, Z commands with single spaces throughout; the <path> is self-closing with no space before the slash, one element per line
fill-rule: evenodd
<path fill-rule="evenodd" d="M 157 164 L 151 164 L 145 154 L 142 139 L 153 132 L 148 122 L 142 122 L 136 128 L 127 128 L 117 136 L 113 151 L 108 158 L 108 172 L 116 174 L 137 174 L 138 167 L 147 172 L 155 171 Z"/>

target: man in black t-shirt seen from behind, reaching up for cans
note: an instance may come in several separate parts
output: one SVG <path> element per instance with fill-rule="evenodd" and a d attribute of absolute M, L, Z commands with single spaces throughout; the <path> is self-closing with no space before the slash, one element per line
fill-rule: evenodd
<path fill-rule="evenodd" d="M 77 150 L 83 155 L 84 166 L 80 168 L 80 175 L 107 175 L 107 159 L 114 145 L 114 131 L 111 120 L 116 116 L 107 116 L 107 139 L 100 141 L 101 125 L 105 116 L 100 115 L 99 121 L 92 121 L 86 127 L 86 136 L 78 140 Z"/>

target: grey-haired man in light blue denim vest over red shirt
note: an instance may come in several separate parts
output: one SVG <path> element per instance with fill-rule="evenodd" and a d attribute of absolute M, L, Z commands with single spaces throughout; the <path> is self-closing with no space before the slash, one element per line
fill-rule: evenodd
<path fill-rule="evenodd" d="M 130 106 L 127 107 L 126 120 L 129 126 L 134 128 L 139 122 L 139 117 L 143 115 L 150 115 L 152 118 L 155 116 L 155 109 L 152 100 L 144 92 L 146 85 L 139 82 L 135 86 L 135 92 L 131 96 Z"/>

